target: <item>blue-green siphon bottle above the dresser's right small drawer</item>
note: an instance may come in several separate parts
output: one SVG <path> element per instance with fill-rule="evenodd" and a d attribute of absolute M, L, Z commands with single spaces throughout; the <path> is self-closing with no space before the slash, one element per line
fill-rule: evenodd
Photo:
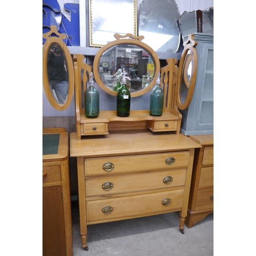
<path fill-rule="evenodd" d="M 150 115 L 161 116 L 163 114 L 163 90 L 160 87 L 161 79 L 160 72 L 158 72 L 156 86 L 153 88 L 150 95 Z"/>

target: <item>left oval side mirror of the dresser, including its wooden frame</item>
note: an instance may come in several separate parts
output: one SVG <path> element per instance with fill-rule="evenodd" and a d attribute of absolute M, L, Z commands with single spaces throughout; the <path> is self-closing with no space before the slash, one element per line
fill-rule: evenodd
<path fill-rule="evenodd" d="M 54 109 L 66 110 L 74 93 L 74 67 L 71 54 L 56 26 L 51 26 L 42 47 L 42 84 L 48 101 Z"/>

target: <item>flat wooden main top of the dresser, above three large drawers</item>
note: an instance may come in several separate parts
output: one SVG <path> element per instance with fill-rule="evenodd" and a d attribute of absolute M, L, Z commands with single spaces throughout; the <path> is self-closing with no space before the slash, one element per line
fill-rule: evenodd
<path fill-rule="evenodd" d="M 136 155 L 197 147 L 201 145 L 187 136 L 172 132 L 118 131 L 109 135 L 85 136 L 81 140 L 77 139 L 76 133 L 70 134 L 71 157 Z"/>

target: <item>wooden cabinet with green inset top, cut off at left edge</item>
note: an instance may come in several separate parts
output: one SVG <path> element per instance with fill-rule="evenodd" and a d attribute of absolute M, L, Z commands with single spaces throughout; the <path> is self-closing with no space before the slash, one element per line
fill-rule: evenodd
<path fill-rule="evenodd" d="M 42 130 L 42 253 L 72 256 L 69 143 L 64 128 Z"/>

